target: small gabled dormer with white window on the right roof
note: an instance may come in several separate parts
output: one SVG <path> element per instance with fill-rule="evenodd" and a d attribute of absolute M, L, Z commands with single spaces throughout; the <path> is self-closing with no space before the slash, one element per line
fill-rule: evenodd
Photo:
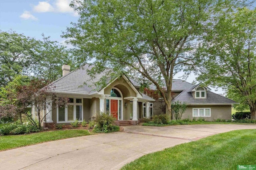
<path fill-rule="evenodd" d="M 192 87 L 189 91 L 189 93 L 192 94 L 192 96 L 195 99 L 205 99 L 207 98 L 207 91 L 210 91 L 211 89 L 207 86 L 204 86 L 202 83 L 199 83 Z"/>

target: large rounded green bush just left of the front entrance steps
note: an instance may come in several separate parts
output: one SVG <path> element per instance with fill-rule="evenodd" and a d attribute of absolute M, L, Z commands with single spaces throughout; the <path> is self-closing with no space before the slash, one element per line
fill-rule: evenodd
<path fill-rule="evenodd" d="M 115 118 L 112 115 L 100 112 L 100 114 L 97 114 L 95 117 L 96 128 L 94 131 L 101 131 L 104 133 L 112 132 L 114 121 Z"/>

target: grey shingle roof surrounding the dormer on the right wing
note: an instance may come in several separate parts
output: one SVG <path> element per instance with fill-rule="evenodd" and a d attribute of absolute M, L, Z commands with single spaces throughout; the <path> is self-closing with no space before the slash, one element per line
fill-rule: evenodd
<path fill-rule="evenodd" d="M 207 92 L 207 98 L 195 99 L 189 91 L 184 90 L 172 101 L 185 102 L 186 104 L 236 104 L 233 100 L 210 91 Z"/>

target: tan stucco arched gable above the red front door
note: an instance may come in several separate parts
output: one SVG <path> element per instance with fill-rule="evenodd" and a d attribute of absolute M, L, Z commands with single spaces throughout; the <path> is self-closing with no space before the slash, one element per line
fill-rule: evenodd
<path fill-rule="evenodd" d="M 124 78 L 120 78 L 111 83 L 108 87 L 104 89 L 104 94 L 110 95 L 110 91 L 113 87 L 118 88 L 123 97 L 136 97 L 136 92 L 131 88 L 131 86 L 124 80 Z"/>

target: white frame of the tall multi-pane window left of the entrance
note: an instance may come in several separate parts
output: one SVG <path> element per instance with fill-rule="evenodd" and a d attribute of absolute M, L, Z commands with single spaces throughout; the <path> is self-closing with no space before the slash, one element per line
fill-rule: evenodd
<path fill-rule="evenodd" d="M 72 98 L 72 97 L 70 97 Z M 84 120 L 84 99 L 83 98 L 72 98 L 74 99 L 73 103 L 68 103 L 68 106 L 74 106 L 73 111 L 73 121 L 68 121 L 68 106 L 65 106 L 65 121 L 59 121 L 59 107 L 57 107 L 57 123 L 70 123 L 76 121 L 76 106 L 82 106 L 82 119 L 78 122 L 82 122 Z M 82 99 L 82 103 L 76 103 L 76 99 Z"/>

